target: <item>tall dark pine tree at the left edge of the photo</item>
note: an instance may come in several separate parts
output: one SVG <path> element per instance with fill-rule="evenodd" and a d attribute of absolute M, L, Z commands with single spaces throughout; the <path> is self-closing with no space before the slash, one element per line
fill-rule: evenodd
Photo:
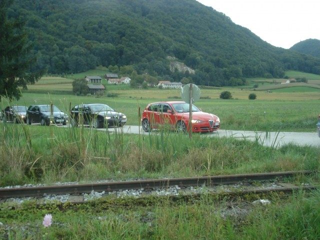
<path fill-rule="evenodd" d="M 36 57 L 32 54 L 24 22 L 7 17 L 7 8 L 12 2 L 0 0 L 0 100 L 1 96 L 18 100 L 20 89 L 27 89 L 27 85 L 37 81 L 44 72 L 30 72 Z"/>

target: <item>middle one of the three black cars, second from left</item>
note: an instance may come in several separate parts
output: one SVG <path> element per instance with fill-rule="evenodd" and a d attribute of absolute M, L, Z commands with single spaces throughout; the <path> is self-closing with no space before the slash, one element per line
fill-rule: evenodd
<path fill-rule="evenodd" d="M 30 105 L 26 111 L 26 123 L 41 123 L 41 125 L 63 124 L 69 120 L 67 114 L 55 105 Z"/>

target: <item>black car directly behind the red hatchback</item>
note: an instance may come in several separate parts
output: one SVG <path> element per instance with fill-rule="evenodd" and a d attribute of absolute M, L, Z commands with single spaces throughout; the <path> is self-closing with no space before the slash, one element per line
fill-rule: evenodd
<path fill-rule="evenodd" d="M 72 126 L 91 125 L 94 128 L 105 126 L 123 126 L 126 116 L 113 110 L 106 104 L 79 104 L 70 111 Z"/>

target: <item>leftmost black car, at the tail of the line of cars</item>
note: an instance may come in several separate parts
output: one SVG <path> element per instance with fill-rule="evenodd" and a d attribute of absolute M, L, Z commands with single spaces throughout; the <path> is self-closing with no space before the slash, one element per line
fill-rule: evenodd
<path fill-rule="evenodd" d="M 25 123 L 26 106 L 7 106 L 2 110 L 3 122 Z"/>

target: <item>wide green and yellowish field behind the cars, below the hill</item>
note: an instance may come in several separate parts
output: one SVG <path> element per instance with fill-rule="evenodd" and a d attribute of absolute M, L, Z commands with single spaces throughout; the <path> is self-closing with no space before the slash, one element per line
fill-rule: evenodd
<path fill-rule="evenodd" d="M 126 84 L 107 84 L 104 96 L 95 95 L 76 96 L 72 94 L 72 78 L 97 74 L 103 76 L 103 70 L 92 70 L 76 76 L 42 77 L 36 84 L 28 86 L 23 96 L 11 104 L 30 105 L 37 103 L 53 103 L 65 112 L 79 103 L 105 103 L 127 115 L 128 125 L 140 124 L 140 114 L 145 106 L 154 101 L 181 100 L 180 89 L 132 89 Z M 289 72 L 293 76 L 308 77 L 308 83 L 280 84 L 284 79 L 247 79 L 251 87 L 207 87 L 199 86 L 200 99 L 195 105 L 203 111 L 211 112 L 220 117 L 222 129 L 246 129 L 282 131 L 313 131 L 319 114 L 320 76 L 299 72 Z M 287 74 L 289 74 L 287 73 Z M 309 79 L 310 78 L 310 79 Z M 103 78 L 104 79 L 104 78 Z M 262 83 L 263 84 L 262 84 Z M 252 88 L 253 83 L 262 85 Z M 260 89 L 260 90 L 259 90 Z M 222 91 L 228 90 L 232 99 L 220 99 Z M 116 97 L 107 97 L 107 95 Z M 249 100 L 248 95 L 255 93 L 257 98 Z M 3 98 L 0 107 L 8 104 Z"/>

